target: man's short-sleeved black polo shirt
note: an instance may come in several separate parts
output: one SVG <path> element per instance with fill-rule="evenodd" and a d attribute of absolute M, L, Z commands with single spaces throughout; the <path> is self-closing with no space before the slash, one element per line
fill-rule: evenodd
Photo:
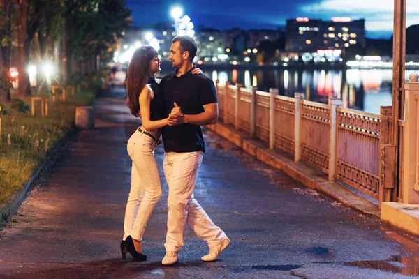
<path fill-rule="evenodd" d="M 163 77 L 160 88 L 166 100 L 165 117 L 179 105 L 184 114 L 200 114 L 203 105 L 217 103 L 214 82 L 206 75 L 193 75 L 189 72 L 176 76 L 176 71 Z M 163 142 L 166 152 L 205 152 L 203 133 L 199 125 L 180 124 L 163 127 Z"/>

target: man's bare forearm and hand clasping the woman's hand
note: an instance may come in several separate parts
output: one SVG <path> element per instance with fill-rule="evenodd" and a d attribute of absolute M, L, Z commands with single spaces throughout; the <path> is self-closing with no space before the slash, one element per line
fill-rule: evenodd
<path fill-rule="evenodd" d="M 179 112 L 170 113 L 168 117 L 168 124 L 170 126 L 179 125 L 183 123 L 194 125 L 210 125 L 215 124 L 218 120 L 218 104 L 211 103 L 203 105 L 204 112 L 200 114 L 183 114 L 179 108 Z M 176 107 L 174 108 L 174 110 Z M 182 116 L 181 116 L 182 115 Z"/>

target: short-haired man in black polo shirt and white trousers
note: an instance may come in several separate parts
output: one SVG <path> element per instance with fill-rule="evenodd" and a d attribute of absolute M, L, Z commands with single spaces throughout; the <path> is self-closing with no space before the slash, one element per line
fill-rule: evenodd
<path fill-rule="evenodd" d="M 196 42 L 189 36 L 172 40 L 169 60 L 175 68 L 161 80 L 169 126 L 163 127 L 165 156 L 163 170 L 169 186 L 166 256 L 162 264 L 175 264 L 184 246 L 186 222 L 210 247 L 203 261 L 214 261 L 230 239 L 207 216 L 193 197 L 196 176 L 205 152 L 200 125 L 216 123 L 218 104 L 214 82 L 205 75 L 193 75 Z"/>

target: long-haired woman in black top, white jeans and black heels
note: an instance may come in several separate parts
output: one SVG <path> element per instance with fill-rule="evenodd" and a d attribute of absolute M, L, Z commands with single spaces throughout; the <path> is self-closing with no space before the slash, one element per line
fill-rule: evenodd
<path fill-rule="evenodd" d="M 126 91 L 128 107 L 135 117 L 141 116 L 142 126 L 135 130 L 127 144 L 133 160 L 131 190 L 126 203 L 124 237 L 121 242 L 122 258 L 128 251 L 135 260 L 145 261 L 141 241 L 145 226 L 161 197 L 159 172 L 154 159 L 154 149 L 159 144 L 161 128 L 168 124 L 164 117 L 165 103 L 159 92 L 154 74 L 160 71 L 159 54 L 153 47 L 135 50 L 128 66 Z M 193 73 L 203 73 L 199 68 Z"/>

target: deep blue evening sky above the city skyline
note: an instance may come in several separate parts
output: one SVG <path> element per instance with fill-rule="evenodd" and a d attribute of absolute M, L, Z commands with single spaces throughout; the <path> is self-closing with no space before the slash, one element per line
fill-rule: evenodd
<path fill-rule="evenodd" d="M 172 21 L 170 8 L 181 6 L 193 24 L 224 30 L 277 29 L 286 19 L 309 17 L 365 18 L 367 36 L 388 38 L 392 34 L 394 0 L 126 0 L 133 10 L 134 25 Z M 407 1 L 406 26 L 419 23 L 419 1 Z"/>

